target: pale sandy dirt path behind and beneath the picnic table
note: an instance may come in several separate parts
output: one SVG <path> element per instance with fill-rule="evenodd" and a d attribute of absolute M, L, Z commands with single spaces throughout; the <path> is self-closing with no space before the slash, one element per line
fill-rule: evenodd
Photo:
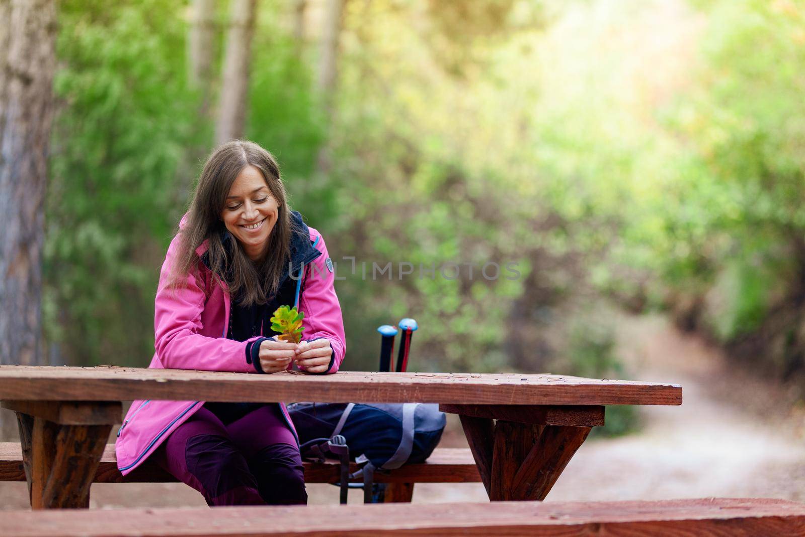
<path fill-rule="evenodd" d="M 724 357 L 661 319 L 623 324 L 620 351 L 632 378 L 678 382 L 681 407 L 646 407 L 645 428 L 592 440 L 573 457 L 548 500 L 805 498 L 803 419 L 780 403 L 779 387 L 729 370 Z M 466 447 L 451 416 L 442 445 Z M 337 489 L 309 485 L 310 502 L 336 503 Z M 353 491 L 351 502 L 361 502 Z M 480 484 L 420 484 L 415 502 L 485 501 Z M 178 484 L 93 485 L 91 506 L 204 506 Z M 0 483 L 0 508 L 24 509 L 23 483 Z"/>

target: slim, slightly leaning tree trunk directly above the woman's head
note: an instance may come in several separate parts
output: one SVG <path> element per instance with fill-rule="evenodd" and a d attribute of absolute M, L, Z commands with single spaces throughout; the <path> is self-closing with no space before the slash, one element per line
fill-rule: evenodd
<path fill-rule="evenodd" d="M 232 19 L 226 36 L 221 101 L 215 128 L 217 144 L 243 136 L 256 10 L 257 0 L 232 1 Z"/>

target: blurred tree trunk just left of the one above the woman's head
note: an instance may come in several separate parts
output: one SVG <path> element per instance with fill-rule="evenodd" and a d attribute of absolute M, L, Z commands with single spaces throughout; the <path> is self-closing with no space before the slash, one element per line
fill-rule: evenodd
<path fill-rule="evenodd" d="M 201 92 L 200 115 L 209 113 L 213 85 L 213 39 L 215 37 L 215 0 L 193 0 L 188 35 L 190 84 Z"/>

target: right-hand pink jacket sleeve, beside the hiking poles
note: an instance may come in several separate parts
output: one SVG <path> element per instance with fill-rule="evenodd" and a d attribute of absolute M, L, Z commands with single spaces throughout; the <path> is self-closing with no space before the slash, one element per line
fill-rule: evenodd
<path fill-rule="evenodd" d="M 302 325 L 305 328 L 304 339 L 312 341 L 320 337 L 330 341 L 332 355 L 330 366 L 325 373 L 335 373 L 346 353 L 346 338 L 344 335 L 344 320 L 341 317 L 341 304 L 336 296 L 335 272 L 328 269 L 327 246 L 324 238 L 311 229 L 312 238 L 319 238 L 316 250 L 321 255 L 314 259 L 306 270 L 302 292 L 299 295 L 299 308 L 304 312 Z M 315 238 L 314 238 L 315 240 Z"/>

